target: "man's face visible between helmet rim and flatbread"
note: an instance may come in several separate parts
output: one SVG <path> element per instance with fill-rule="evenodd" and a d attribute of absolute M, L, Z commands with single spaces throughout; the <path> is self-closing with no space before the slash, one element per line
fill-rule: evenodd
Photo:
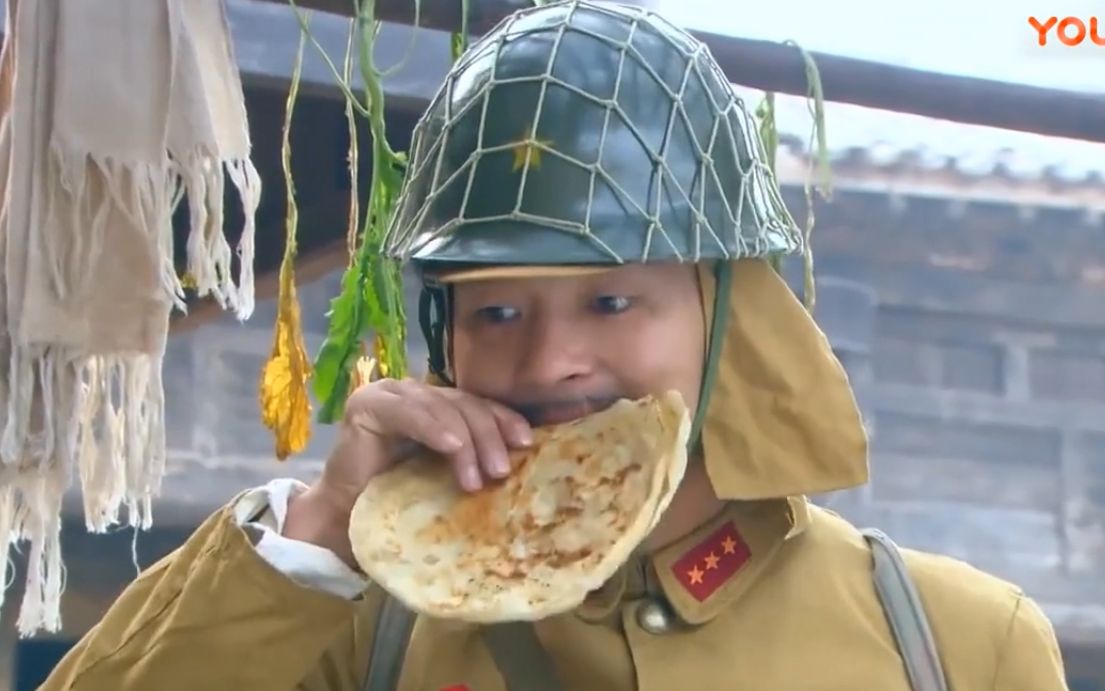
<path fill-rule="evenodd" d="M 460 283 L 453 307 L 457 387 L 534 425 L 667 389 L 697 406 L 705 325 L 691 264 Z"/>

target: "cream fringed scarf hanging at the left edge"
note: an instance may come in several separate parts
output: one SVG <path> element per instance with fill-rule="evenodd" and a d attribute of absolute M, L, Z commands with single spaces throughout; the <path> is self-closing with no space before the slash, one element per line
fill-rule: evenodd
<path fill-rule="evenodd" d="M 199 295 L 253 310 L 242 86 L 221 0 L 8 0 L 0 60 L 0 540 L 30 543 L 23 635 L 60 628 L 62 496 L 148 527 L 165 467 L 161 360 L 183 306 L 187 199 Z M 239 278 L 224 180 L 245 211 Z M 6 544 L 8 544 L 6 543 Z M 4 559 L 7 563 L 7 559 Z"/>

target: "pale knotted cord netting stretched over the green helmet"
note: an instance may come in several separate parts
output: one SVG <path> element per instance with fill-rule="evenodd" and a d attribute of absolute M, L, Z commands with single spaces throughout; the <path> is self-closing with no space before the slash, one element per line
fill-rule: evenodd
<path fill-rule="evenodd" d="M 641 8 L 601 6 L 582 0 L 572 0 L 562 7 L 566 15 L 555 29 L 554 45 L 549 51 L 544 72 L 525 76 L 498 74 L 503 53 L 512 41 L 527 33 L 549 32 L 547 13 L 552 6 L 520 11 L 507 18 L 483 41 L 475 43 L 454 66 L 434 96 L 427 115 L 415 127 L 413 155 L 407 182 L 398 213 L 392 219 L 386 240 L 388 253 L 406 259 L 419 248 L 440 241 L 467 224 L 493 221 L 528 222 L 585 237 L 617 263 L 646 262 L 657 253 L 674 255 L 678 261 L 694 262 L 703 258 L 733 260 L 801 251 L 802 234 L 783 205 L 774 175 L 766 163 L 767 158 L 755 122 L 744 102 L 729 87 L 728 81 L 706 46 L 657 14 Z M 624 27 L 624 35 L 614 38 L 609 35 L 609 31 L 606 33 L 597 31 L 588 25 L 594 24 L 593 21 L 573 21 L 579 12 L 587 12 L 596 18 L 604 15 L 609 20 L 620 22 Z M 609 28 L 609 24 L 606 27 Z M 677 83 L 665 81 L 642 53 L 638 39 L 645 33 L 649 40 L 663 36 L 671 46 L 685 56 L 685 67 L 682 75 L 675 80 Z M 611 94 L 589 93 L 556 74 L 555 67 L 558 61 L 570 60 L 570 55 L 567 54 L 569 45 L 579 36 L 601 41 L 615 55 L 617 71 L 613 75 Z M 491 63 L 488 75 L 484 75 L 478 69 L 484 61 Z M 630 65 L 638 69 L 630 71 L 627 69 Z M 603 66 L 598 65 L 596 69 Z M 659 138 L 640 127 L 630 112 L 631 108 L 627 106 L 623 96 L 632 93 L 627 90 L 640 86 L 632 83 L 634 80 L 627 78 L 629 72 L 638 76 L 642 73 L 651 76 L 655 85 L 649 86 L 659 86 L 667 97 L 666 128 Z M 474 74 L 477 76 L 473 76 Z M 472 84 L 465 81 L 472 82 L 475 78 L 483 80 L 476 87 L 475 96 L 467 98 L 462 108 L 451 111 L 454 92 L 459 88 L 471 90 Z M 708 94 L 713 121 L 707 127 L 702 126 L 701 115 L 692 117 L 685 108 L 684 96 L 692 84 Z M 539 93 L 533 112 L 518 114 L 519 122 L 528 116 L 528 121 L 525 121 L 529 124 L 527 132 L 515 140 L 491 144 L 484 140 L 484 134 L 487 129 L 492 95 L 495 90 L 507 85 L 536 85 Z M 601 109 L 602 127 L 592 160 L 580 160 L 558 149 L 555 143 L 538 136 L 541 117 L 548 116 L 545 102 L 550 88 L 568 90 L 588 105 Z M 460 166 L 450 171 L 449 168 L 452 166 L 446 165 L 445 155 L 450 137 L 454 135 L 457 123 L 470 116 L 473 108 L 480 108 L 476 146 Z M 641 146 L 648 150 L 652 165 L 651 169 L 642 171 L 642 175 L 650 176 L 649 193 L 645 199 L 635 198 L 603 167 L 608 153 L 607 135 L 614 118 L 631 130 Z M 690 185 L 686 184 L 687 171 L 677 175 L 672 169 L 667 156 L 669 147 L 675 140 L 677 127 L 682 127 L 694 149 L 696 165 L 690 176 Z M 722 151 L 722 147 L 728 147 L 729 150 Z M 475 206 L 473 184 L 477 166 L 486 157 L 504 153 L 512 154 L 516 163 L 519 157 L 523 158 L 524 164 L 520 166 L 520 182 L 513 203 L 498 213 L 472 213 L 472 208 Z M 533 184 L 532 169 L 535 168 L 534 164 L 543 158 L 556 159 L 585 172 L 588 179 L 586 190 L 588 199 L 583 218 L 565 218 L 562 213 L 534 213 L 524 208 L 527 190 Z M 735 177 L 733 171 L 719 175 L 715 166 L 717 159 L 737 161 L 739 182 L 733 181 Z M 732 195 L 722 193 L 722 190 L 734 184 L 739 185 L 739 195 L 735 202 L 730 199 Z M 640 256 L 619 256 L 603 242 L 600 234 L 593 231 L 596 224 L 592 223 L 591 211 L 596 207 L 596 195 L 602 191 L 603 185 L 613 191 L 620 203 L 645 220 L 646 235 Z M 428 214 L 439 197 L 445 190 L 455 193 L 457 186 L 463 186 L 460 213 L 441 222 L 428 222 Z M 707 209 L 707 197 L 711 195 L 722 203 Z M 665 203 L 686 209 L 690 227 L 664 228 L 661 222 L 661 211 Z M 714 209 L 719 209 L 719 212 Z M 675 242 L 670 234 L 672 232 L 691 232 L 693 241 Z M 680 250 L 681 247 L 684 248 L 683 251 Z M 686 250 L 687 247 L 690 251 Z M 664 251 L 661 251 L 661 248 Z"/>

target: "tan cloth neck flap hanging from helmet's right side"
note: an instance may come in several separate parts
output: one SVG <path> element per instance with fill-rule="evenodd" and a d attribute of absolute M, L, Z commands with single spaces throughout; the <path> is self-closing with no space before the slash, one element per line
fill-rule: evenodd
<path fill-rule="evenodd" d="M 867 481 L 867 436 L 828 338 L 764 260 L 699 266 L 708 326 L 697 410 L 722 499 L 821 494 Z"/>

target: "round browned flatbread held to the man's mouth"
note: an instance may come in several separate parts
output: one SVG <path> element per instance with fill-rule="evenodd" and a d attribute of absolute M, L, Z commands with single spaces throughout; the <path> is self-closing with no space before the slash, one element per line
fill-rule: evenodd
<path fill-rule="evenodd" d="M 365 573 L 410 609 L 480 624 L 579 606 L 629 558 L 686 470 L 676 391 L 535 430 L 512 474 L 476 493 L 425 454 L 369 482 L 349 537 Z"/>

